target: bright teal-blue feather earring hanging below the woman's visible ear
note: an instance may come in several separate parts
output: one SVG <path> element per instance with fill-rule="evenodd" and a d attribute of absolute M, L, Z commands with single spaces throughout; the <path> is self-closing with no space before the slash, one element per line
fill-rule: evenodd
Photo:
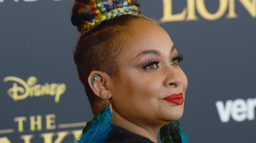
<path fill-rule="evenodd" d="M 112 129 L 112 116 L 111 109 L 108 106 L 103 107 L 97 116 L 86 124 L 85 132 L 77 143 L 103 143 Z"/>

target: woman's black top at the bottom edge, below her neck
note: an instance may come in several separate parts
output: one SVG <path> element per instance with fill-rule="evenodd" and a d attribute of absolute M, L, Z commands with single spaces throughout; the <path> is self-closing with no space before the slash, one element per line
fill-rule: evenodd
<path fill-rule="evenodd" d="M 149 138 L 136 135 L 123 128 L 115 126 L 104 143 L 154 143 Z"/>

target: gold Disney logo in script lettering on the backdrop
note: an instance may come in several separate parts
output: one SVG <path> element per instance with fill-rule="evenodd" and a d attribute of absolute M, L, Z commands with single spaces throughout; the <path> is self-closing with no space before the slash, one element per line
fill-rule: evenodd
<path fill-rule="evenodd" d="M 37 78 L 31 76 L 27 82 L 15 76 L 8 76 L 4 78 L 4 82 L 13 81 L 12 87 L 7 90 L 7 94 L 14 100 L 24 100 L 30 97 L 39 97 L 44 95 L 55 96 L 55 103 L 59 102 L 60 95 L 66 91 L 64 83 L 45 83 L 44 85 L 36 84 Z M 21 86 L 18 86 L 20 84 Z"/>

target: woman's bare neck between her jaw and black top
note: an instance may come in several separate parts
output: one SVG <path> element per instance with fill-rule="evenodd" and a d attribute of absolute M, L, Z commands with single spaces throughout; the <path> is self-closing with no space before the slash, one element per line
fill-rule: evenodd
<path fill-rule="evenodd" d="M 113 110 L 113 109 L 112 109 Z M 122 116 L 120 116 L 115 110 L 113 110 L 112 124 L 124 128 L 136 135 L 149 138 L 151 141 L 157 143 L 157 134 L 161 126 L 147 126 L 145 124 L 135 124 Z"/>

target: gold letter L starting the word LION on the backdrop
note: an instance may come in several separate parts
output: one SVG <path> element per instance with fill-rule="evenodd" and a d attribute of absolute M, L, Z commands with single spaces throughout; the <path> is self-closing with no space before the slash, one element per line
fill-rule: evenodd
<path fill-rule="evenodd" d="M 187 14 L 186 8 L 179 14 L 172 14 L 172 0 L 163 0 L 163 17 L 161 22 L 184 21 Z"/>

